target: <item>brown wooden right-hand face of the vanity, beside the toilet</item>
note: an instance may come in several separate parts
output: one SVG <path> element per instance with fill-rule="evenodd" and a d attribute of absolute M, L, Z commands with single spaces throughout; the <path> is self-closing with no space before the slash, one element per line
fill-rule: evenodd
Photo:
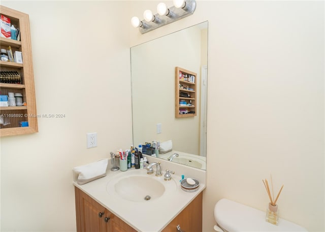
<path fill-rule="evenodd" d="M 163 232 L 175 232 L 177 226 L 184 232 L 202 231 L 202 192 L 182 211 L 171 223 L 169 223 Z"/>

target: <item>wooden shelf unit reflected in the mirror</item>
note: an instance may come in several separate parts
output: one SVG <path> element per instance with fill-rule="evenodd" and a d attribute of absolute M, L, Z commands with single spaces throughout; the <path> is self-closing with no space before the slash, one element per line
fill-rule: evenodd
<path fill-rule="evenodd" d="M 197 116 L 197 74 L 186 69 L 175 67 L 175 117 L 185 118 Z M 187 96 L 181 96 L 183 95 Z M 181 106 L 180 102 L 186 102 Z M 189 105 L 190 104 L 190 105 Z M 187 112 L 181 114 L 180 112 Z"/>

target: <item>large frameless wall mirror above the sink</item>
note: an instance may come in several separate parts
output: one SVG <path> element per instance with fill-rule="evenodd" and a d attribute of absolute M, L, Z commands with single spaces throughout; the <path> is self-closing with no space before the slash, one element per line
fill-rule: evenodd
<path fill-rule="evenodd" d="M 159 141 L 159 158 L 206 169 L 207 51 L 207 21 L 131 48 L 134 146 Z M 197 73 L 194 117 L 175 117 L 175 67 Z"/>

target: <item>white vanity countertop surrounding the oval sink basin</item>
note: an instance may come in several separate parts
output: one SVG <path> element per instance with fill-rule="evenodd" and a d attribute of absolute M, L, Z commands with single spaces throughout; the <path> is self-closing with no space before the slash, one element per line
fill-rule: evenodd
<path fill-rule="evenodd" d="M 169 165 L 169 163 L 161 165 L 166 166 Z M 180 169 L 184 169 L 184 167 L 180 167 Z M 168 225 L 205 188 L 205 178 L 201 182 L 200 178 L 196 177 L 196 170 L 187 170 L 185 172 L 190 172 L 192 175 L 189 176 L 187 174 L 185 178 L 192 177 L 199 179 L 200 186 L 198 191 L 186 192 L 181 189 L 179 182 L 181 179 L 180 171 L 179 175 L 172 175 L 173 180 L 176 182 L 176 189 L 173 191 L 166 191 L 166 194 L 163 194 L 157 199 L 143 202 L 124 200 L 118 194 L 109 193 L 112 191 L 108 191 L 107 186 L 110 181 L 128 173 L 130 176 L 147 175 L 147 170 L 145 169 L 136 170 L 132 168 L 128 169 L 126 172 L 112 172 L 109 170 L 107 176 L 103 178 L 84 185 L 78 185 L 76 181 L 74 181 L 73 184 L 136 230 L 143 232 L 160 231 L 165 228 L 166 225 Z M 163 171 L 162 173 L 163 176 L 154 176 L 154 178 L 160 178 L 163 180 L 166 172 Z M 200 173 L 197 175 L 202 176 Z M 173 184 L 173 186 L 175 186 L 175 184 Z M 130 194 L 132 194 L 132 192 L 130 192 Z"/>

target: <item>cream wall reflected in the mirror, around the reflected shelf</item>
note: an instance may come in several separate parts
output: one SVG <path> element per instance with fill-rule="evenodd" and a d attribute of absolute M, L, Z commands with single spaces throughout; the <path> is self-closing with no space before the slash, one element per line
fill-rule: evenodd
<path fill-rule="evenodd" d="M 199 155 L 201 105 L 199 101 L 195 103 L 197 116 L 175 118 L 175 67 L 197 73 L 198 99 L 201 29 L 190 27 L 169 37 L 135 46 L 131 50 L 131 58 L 135 146 L 153 140 L 172 140 L 173 150 Z M 157 123 L 161 123 L 161 134 L 156 133 Z"/>

